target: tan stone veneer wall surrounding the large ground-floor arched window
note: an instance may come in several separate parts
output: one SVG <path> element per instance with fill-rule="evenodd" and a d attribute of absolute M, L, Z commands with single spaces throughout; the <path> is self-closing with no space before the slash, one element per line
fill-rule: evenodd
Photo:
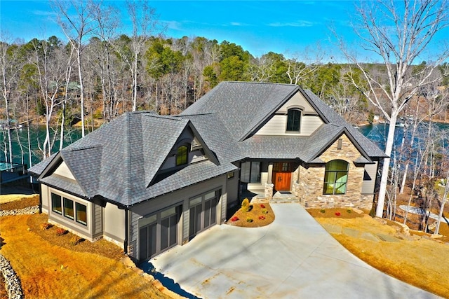
<path fill-rule="evenodd" d="M 300 166 L 297 169 L 299 181 L 293 183 L 293 191 L 304 207 L 371 209 L 373 206 L 373 195 L 362 195 L 361 193 L 364 167 L 356 167 L 353 162 L 361 153 L 358 152 L 345 134 L 340 138 L 342 139 L 342 149 L 337 149 L 338 141 L 335 141 L 321 154 L 320 158 L 323 162 L 329 162 L 330 160 L 345 160 L 349 162 L 346 194 L 323 195 L 325 167 L 309 167 L 306 169 Z"/>

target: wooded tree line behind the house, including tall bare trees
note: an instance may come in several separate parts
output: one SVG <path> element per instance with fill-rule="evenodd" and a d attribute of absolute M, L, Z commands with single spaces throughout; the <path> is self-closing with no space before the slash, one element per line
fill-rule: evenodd
<path fill-rule="evenodd" d="M 126 1 L 132 23 L 128 34 L 121 32 L 114 6 L 99 1 L 51 3 L 66 41 L 50 36 L 20 42 L 1 32 L 0 109 L 6 124 L 2 126 L 6 161 L 13 160 L 11 130 L 6 130 L 12 120 L 43 120 L 46 137 L 39 151 L 45 159 L 55 151 L 55 140 L 65 138 L 69 125 L 81 123 L 84 136 L 85 131 L 126 111 L 177 114 L 220 81 L 298 84 L 349 123 L 373 120 L 379 114 L 390 123 L 385 146 L 390 157 L 397 120 L 422 123 L 448 118 L 449 50 L 443 48 L 431 60 L 419 61 L 434 36 L 449 25 L 446 0 L 375 2 L 373 6 L 363 2 L 354 30 L 359 46 L 375 53 L 380 62 L 358 60 L 354 49 L 339 39 L 345 64 L 326 63 L 319 49 L 296 56 L 269 52 L 254 57 L 229 41 L 167 38 L 156 12 L 145 1 Z M 384 24 L 385 20 L 391 24 Z M 414 123 L 408 127 L 413 136 L 417 127 Z M 430 128 L 426 148 L 432 148 L 433 134 Z M 404 139 L 403 148 L 413 146 L 414 140 Z M 434 159 L 438 151 L 445 151 L 441 146 L 433 148 L 416 155 L 425 157 L 425 165 L 433 165 L 429 174 L 438 166 Z M 409 165 L 413 155 L 406 158 Z M 391 198 L 387 186 L 397 186 L 397 181 L 403 186 L 408 176 L 407 165 L 401 172 L 391 171 L 387 159 L 380 198 Z M 377 216 L 382 216 L 382 201 Z"/>

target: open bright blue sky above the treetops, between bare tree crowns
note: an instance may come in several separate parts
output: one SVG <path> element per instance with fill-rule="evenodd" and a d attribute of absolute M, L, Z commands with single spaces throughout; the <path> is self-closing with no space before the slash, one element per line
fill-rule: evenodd
<path fill-rule="evenodd" d="M 60 0 L 62 1 L 62 0 Z M 129 24 L 124 1 L 110 1 L 121 7 L 119 16 Z M 349 43 L 354 41 L 350 26 L 354 1 L 150 1 L 166 37 L 203 36 L 236 43 L 260 57 L 273 51 L 286 56 L 312 56 L 321 47 L 326 60 L 341 60 L 340 50 L 330 41 L 329 27 Z M 64 40 L 48 1 L 0 0 L 1 30 L 25 42 L 55 35 Z M 129 33 L 126 26 L 123 33 Z"/>

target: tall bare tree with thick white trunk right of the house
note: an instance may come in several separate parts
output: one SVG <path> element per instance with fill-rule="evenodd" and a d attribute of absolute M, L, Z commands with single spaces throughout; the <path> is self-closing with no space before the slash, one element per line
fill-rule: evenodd
<path fill-rule="evenodd" d="M 390 156 L 398 114 L 424 85 L 439 80 L 433 76 L 438 65 L 449 57 L 449 48 L 432 53 L 421 69 L 413 64 L 427 54 L 438 32 L 449 25 L 448 0 L 432 1 L 362 1 L 357 7 L 359 27 L 354 27 L 361 39 L 361 48 L 382 59 L 385 76 L 373 76 L 357 55 L 351 53 L 342 39 L 340 48 L 349 62 L 355 64 L 368 81 L 368 89 L 353 82 L 370 102 L 389 120 L 385 153 Z M 382 97 L 388 104 L 382 104 Z M 376 216 L 382 217 L 387 190 L 390 158 L 384 159 Z"/>

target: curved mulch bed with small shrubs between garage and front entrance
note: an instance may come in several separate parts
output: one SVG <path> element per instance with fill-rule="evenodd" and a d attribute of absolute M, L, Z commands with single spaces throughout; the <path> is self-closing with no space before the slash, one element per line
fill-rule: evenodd
<path fill-rule="evenodd" d="M 274 213 L 269 203 L 250 204 L 249 211 L 241 207 L 226 222 L 241 228 L 260 228 L 274 221 Z"/>

